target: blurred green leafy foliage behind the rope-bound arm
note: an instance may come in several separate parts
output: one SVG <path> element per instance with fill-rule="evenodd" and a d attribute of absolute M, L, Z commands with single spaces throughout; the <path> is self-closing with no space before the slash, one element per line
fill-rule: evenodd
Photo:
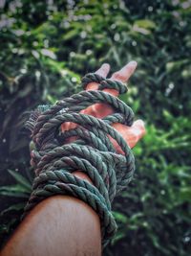
<path fill-rule="evenodd" d="M 81 89 L 109 62 L 138 61 L 121 99 L 146 122 L 137 174 L 115 200 L 117 236 L 104 255 L 191 255 L 191 2 L 1 1 L 0 240 L 18 225 L 30 192 L 35 106 Z M 11 185 L 10 185 L 11 184 Z"/>

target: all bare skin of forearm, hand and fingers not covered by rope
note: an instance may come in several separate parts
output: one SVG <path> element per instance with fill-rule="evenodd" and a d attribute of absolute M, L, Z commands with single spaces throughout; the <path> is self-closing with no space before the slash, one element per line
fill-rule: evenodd
<path fill-rule="evenodd" d="M 128 81 L 135 72 L 137 63 L 131 61 L 114 73 L 113 80 Z M 107 77 L 110 66 L 103 64 L 96 73 Z M 91 82 L 86 90 L 96 90 L 97 83 Z M 118 96 L 117 90 L 104 91 Z M 109 105 L 92 105 L 83 113 L 103 118 L 113 113 Z M 65 123 L 62 130 L 74 128 L 73 123 Z M 144 135 L 144 124 L 136 121 L 131 128 L 114 124 L 114 128 L 123 136 L 130 148 L 133 148 Z M 75 138 L 72 138 L 74 140 Z M 110 138 L 118 153 L 123 153 L 117 142 Z M 71 141 L 72 141 L 71 140 Z M 90 177 L 76 170 L 74 175 L 92 183 Z M 54 196 L 40 202 L 21 222 L 10 241 L 0 253 L 1 256 L 74 256 L 101 255 L 100 222 L 96 212 L 79 199 L 67 196 Z"/>

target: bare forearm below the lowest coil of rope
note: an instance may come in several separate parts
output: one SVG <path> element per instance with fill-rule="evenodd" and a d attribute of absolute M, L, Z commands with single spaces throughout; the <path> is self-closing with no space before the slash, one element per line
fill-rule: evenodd
<path fill-rule="evenodd" d="M 40 202 L 20 224 L 1 256 L 101 255 L 100 223 L 83 201 L 55 196 Z"/>

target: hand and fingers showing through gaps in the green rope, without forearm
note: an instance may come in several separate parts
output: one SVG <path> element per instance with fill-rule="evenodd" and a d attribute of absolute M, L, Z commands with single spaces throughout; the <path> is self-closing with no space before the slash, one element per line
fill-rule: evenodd
<path fill-rule="evenodd" d="M 127 82 L 130 79 L 130 77 L 134 74 L 136 67 L 137 67 L 136 61 L 129 62 L 124 67 L 122 67 L 119 71 L 115 72 L 112 75 L 111 80 Z M 110 71 L 110 65 L 105 63 L 96 71 L 96 74 L 106 78 L 109 71 Z M 97 82 L 90 82 L 86 86 L 86 90 L 97 90 L 97 88 L 98 88 Z M 116 97 L 118 96 L 118 91 L 115 89 L 103 89 L 103 91 L 110 93 Z M 114 112 L 114 109 L 112 108 L 112 106 L 107 104 L 91 105 L 86 109 L 80 111 L 80 113 L 92 115 L 92 116 L 95 116 L 96 118 L 104 118 L 107 115 L 112 114 L 113 112 Z M 76 126 L 77 125 L 74 123 L 67 122 L 61 126 L 61 130 L 62 131 L 69 130 L 71 128 L 75 128 Z M 130 148 L 135 147 L 138 141 L 145 134 L 144 123 L 140 119 L 135 121 L 132 127 L 127 127 L 119 123 L 113 124 L 112 126 L 113 128 L 116 128 L 117 131 L 122 135 L 123 139 L 126 141 L 126 143 L 129 145 Z M 75 139 L 76 137 L 70 138 L 68 142 L 72 142 Z M 111 137 L 110 137 L 110 140 L 115 146 L 117 152 L 123 154 L 124 152 L 121 150 L 121 148 L 117 144 L 117 141 Z M 93 183 L 88 175 L 80 171 L 75 171 L 73 175 L 80 177 L 82 179 L 86 179 L 89 182 Z"/>

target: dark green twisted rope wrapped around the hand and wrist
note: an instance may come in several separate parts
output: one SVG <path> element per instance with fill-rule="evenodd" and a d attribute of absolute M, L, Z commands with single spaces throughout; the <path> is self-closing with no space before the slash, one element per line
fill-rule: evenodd
<path fill-rule="evenodd" d="M 112 127 L 114 123 L 132 126 L 133 110 L 117 97 L 104 91 L 116 89 L 119 94 L 127 91 L 126 84 L 90 73 L 82 79 L 85 89 L 89 82 L 98 82 L 98 90 L 81 91 L 55 105 L 41 105 L 27 122 L 32 131 L 32 165 L 35 178 L 32 195 L 25 207 L 25 215 L 41 200 L 53 195 L 70 195 L 88 203 L 101 221 L 103 244 L 117 230 L 111 203 L 124 189 L 135 172 L 135 159 L 128 144 Z M 114 114 L 103 119 L 80 113 L 90 105 L 111 105 Z M 65 122 L 73 122 L 76 128 L 60 132 Z M 117 153 L 108 135 L 117 141 L 124 155 Z M 76 136 L 73 143 L 67 140 Z M 81 170 L 92 179 L 94 185 L 73 175 Z"/>

